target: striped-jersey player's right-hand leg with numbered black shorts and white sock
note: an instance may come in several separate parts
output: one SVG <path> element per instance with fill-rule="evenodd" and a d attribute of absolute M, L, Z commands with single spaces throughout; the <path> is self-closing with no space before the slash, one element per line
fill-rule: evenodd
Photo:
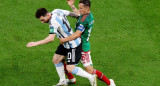
<path fill-rule="evenodd" d="M 75 65 L 79 63 L 81 59 L 81 45 L 79 45 L 77 48 L 70 49 L 68 51 L 67 55 L 67 70 L 68 72 L 87 78 L 90 80 L 92 86 L 96 86 L 96 76 L 93 76 L 89 73 L 87 73 L 85 70 L 83 70 L 80 67 L 76 67 Z"/>

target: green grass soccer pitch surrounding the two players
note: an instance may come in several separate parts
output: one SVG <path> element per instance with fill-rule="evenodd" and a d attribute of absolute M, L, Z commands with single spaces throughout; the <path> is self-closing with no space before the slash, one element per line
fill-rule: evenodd
<path fill-rule="evenodd" d="M 117 86 L 160 86 L 160 1 L 91 3 L 95 20 L 90 37 L 94 67 L 114 79 Z M 0 86 L 58 83 L 52 57 L 59 40 L 26 47 L 28 42 L 48 36 L 48 24 L 35 18 L 40 7 L 71 11 L 66 0 L 0 0 Z M 68 19 L 74 28 L 76 19 Z M 90 86 L 87 79 L 75 77 L 77 83 L 71 86 Z M 106 84 L 98 80 L 98 86 Z"/>

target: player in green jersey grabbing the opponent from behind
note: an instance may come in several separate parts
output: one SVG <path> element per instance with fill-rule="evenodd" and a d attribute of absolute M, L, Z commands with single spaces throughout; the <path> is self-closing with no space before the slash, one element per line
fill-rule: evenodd
<path fill-rule="evenodd" d="M 74 0 L 67 0 L 68 5 L 72 8 L 74 13 L 80 14 L 77 23 L 76 23 L 76 32 L 72 35 L 61 38 L 60 42 L 63 44 L 64 42 L 76 39 L 81 37 L 82 39 L 82 58 L 81 62 L 85 67 L 85 70 L 90 74 L 96 74 L 98 79 L 104 81 L 109 86 L 116 86 L 113 79 L 108 79 L 102 72 L 93 68 L 91 55 L 90 55 L 90 43 L 89 37 L 91 34 L 91 30 L 93 28 L 93 14 L 90 12 L 91 3 L 89 0 L 80 0 L 79 1 L 79 11 L 74 6 Z M 71 80 L 69 80 L 71 82 Z"/>

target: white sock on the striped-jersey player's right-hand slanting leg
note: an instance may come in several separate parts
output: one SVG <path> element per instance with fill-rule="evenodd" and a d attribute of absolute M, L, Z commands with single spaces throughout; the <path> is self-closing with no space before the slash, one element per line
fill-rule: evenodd
<path fill-rule="evenodd" d="M 93 76 L 89 73 L 87 73 L 86 71 L 84 71 L 82 68 L 80 67 L 75 67 L 74 70 L 72 71 L 72 74 L 81 76 L 81 77 L 85 77 L 89 80 L 91 80 L 93 78 Z"/>

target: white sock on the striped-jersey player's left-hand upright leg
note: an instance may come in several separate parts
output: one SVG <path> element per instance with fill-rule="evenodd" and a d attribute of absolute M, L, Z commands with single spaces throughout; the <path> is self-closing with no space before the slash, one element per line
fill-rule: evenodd
<path fill-rule="evenodd" d="M 64 65 L 63 65 L 63 63 L 60 62 L 58 64 L 55 64 L 55 66 L 56 66 L 56 70 L 57 70 L 57 73 L 59 75 L 60 81 L 65 80 L 65 72 L 64 72 Z"/>

